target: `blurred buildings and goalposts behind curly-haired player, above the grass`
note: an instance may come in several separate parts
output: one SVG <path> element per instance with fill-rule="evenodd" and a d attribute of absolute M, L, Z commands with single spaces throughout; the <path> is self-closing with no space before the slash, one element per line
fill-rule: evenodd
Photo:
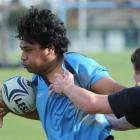
<path fill-rule="evenodd" d="M 140 0 L 0 0 L 0 60 L 18 51 L 16 23 L 31 6 L 48 8 L 64 21 L 73 51 L 122 51 L 139 46 Z"/>

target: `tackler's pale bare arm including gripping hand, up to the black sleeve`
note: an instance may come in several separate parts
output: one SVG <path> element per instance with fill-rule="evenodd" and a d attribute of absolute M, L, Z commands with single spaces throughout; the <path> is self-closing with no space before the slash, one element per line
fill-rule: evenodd
<path fill-rule="evenodd" d="M 56 74 L 52 91 L 64 93 L 83 111 L 95 113 L 111 113 L 107 95 L 95 94 L 74 84 L 73 75 L 69 72 L 64 77 Z"/>

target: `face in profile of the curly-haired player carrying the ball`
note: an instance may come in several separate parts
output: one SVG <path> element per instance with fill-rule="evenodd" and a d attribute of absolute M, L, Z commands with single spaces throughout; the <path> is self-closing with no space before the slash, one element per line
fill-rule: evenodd
<path fill-rule="evenodd" d="M 39 44 L 30 44 L 27 41 L 21 41 L 22 50 L 21 61 L 23 66 L 31 73 L 43 74 L 47 72 L 50 57 L 48 48 L 42 49 Z"/>

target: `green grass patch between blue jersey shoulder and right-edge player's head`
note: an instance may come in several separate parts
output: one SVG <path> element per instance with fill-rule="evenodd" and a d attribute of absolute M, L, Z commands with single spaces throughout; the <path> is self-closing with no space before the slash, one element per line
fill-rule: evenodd
<path fill-rule="evenodd" d="M 94 53 L 88 56 L 106 66 L 110 75 L 119 83 L 130 86 L 133 84 L 133 69 L 130 61 L 132 51 L 124 53 Z"/>

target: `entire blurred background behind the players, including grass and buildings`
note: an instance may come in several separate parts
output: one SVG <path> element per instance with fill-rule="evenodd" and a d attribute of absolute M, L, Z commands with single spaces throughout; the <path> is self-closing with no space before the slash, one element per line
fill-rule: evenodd
<path fill-rule="evenodd" d="M 0 0 L 0 85 L 14 75 L 31 77 L 20 67 L 15 39 L 16 23 L 30 6 L 51 9 L 64 21 L 71 51 L 107 66 L 123 85 L 135 84 L 130 56 L 140 46 L 140 0 Z M 0 140 L 46 139 L 38 122 L 8 114 L 4 124 Z M 139 130 L 113 134 L 116 140 L 140 139 Z"/>

